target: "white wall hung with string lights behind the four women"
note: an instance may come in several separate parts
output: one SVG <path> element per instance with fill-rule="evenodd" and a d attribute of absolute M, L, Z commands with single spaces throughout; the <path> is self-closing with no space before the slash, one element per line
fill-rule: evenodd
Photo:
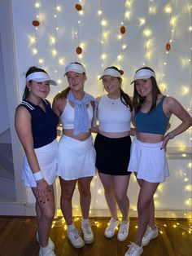
<path fill-rule="evenodd" d="M 97 96 L 103 93 L 103 87 L 98 82 L 98 75 L 102 73 L 103 68 L 111 64 L 124 69 L 123 88 L 133 95 L 133 87 L 129 83 L 134 71 L 145 63 L 155 69 L 157 80 L 164 94 L 176 97 L 190 111 L 190 0 L 135 0 L 128 1 L 129 5 L 125 7 L 123 0 L 103 0 L 101 1 L 102 16 L 97 13 L 101 9 L 100 1 L 81 1 L 83 15 L 79 15 L 76 11 L 74 7 L 76 2 L 73 1 L 41 0 L 38 2 L 40 7 L 35 8 L 33 0 L 12 0 L 20 95 L 24 90 L 24 73 L 29 66 L 38 65 L 46 68 L 51 77 L 61 81 L 57 88 L 52 88 L 49 97 L 52 100 L 59 90 L 63 90 L 67 86 L 63 72 L 64 66 L 71 61 L 80 61 L 85 65 L 88 75 L 85 90 L 92 95 Z M 148 3 L 149 8 L 152 7 L 152 10 L 155 11 L 147 12 Z M 55 4 L 61 7 L 61 11 L 55 12 Z M 165 12 L 167 4 L 172 4 L 171 14 Z M 129 18 L 124 19 L 127 33 L 120 40 L 118 39 L 120 23 L 126 11 L 129 11 Z M 32 25 L 32 21 L 37 18 L 36 15 L 39 15 L 38 19 L 40 20 L 37 30 Z M 142 18 L 146 18 L 144 25 L 139 22 Z M 106 26 L 101 26 L 102 19 L 107 21 Z M 81 22 L 79 25 L 78 20 Z M 56 27 L 59 30 L 56 30 Z M 149 38 L 143 34 L 145 29 L 151 29 Z M 79 31 L 79 35 L 76 35 L 76 31 Z M 50 42 L 50 38 L 53 36 L 56 39 L 55 44 Z M 33 42 L 33 38 L 36 38 L 35 42 Z M 101 44 L 101 38 L 103 44 Z M 172 39 L 171 50 L 166 54 L 165 44 L 170 39 Z M 79 59 L 75 50 L 76 46 L 81 43 L 83 43 L 83 55 Z M 124 44 L 127 47 L 122 50 Z M 34 48 L 38 51 L 36 55 L 33 54 Z M 58 52 L 55 56 L 52 55 L 54 49 Z M 103 54 L 106 55 L 105 60 L 101 58 Z M 120 54 L 121 60 L 118 59 Z M 63 64 L 59 64 L 60 59 L 63 60 Z M 166 89 L 162 83 L 166 84 Z M 172 118 L 171 123 L 173 129 L 178 121 L 176 118 Z M 169 147 L 174 147 L 176 152 L 180 152 L 181 148 L 185 151 L 185 147 L 191 146 L 190 137 L 190 131 L 185 132 L 172 139 Z M 189 198 L 189 192 L 185 190 L 185 187 L 190 183 L 190 158 L 184 161 L 171 160 L 169 164 L 171 178 L 167 183 L 162 184 L 162 192 L 157 193 L 159 195 L 156 201 L 157 208 L 160 210 L 188 210 L 190 206 L 186 205 L 185 201 Z M 188 181 L 185 181 L 185 177 Z M 93 183 L 93 207 L 107 208 L 103 193 L 100 195 L 100 189 L 103 188 L 98 179 L 95 180 L 95 183 Z M 176 194 L 177 200 L 172 200 Z M 131 204 L 135 207 L 137 184 L 133 180 L 129 187 L 129 195 Z M 74 201 L 75 205 L 78 205 L 78 194 Z M 28 202 L 33 202 L 30 192 Z"/>

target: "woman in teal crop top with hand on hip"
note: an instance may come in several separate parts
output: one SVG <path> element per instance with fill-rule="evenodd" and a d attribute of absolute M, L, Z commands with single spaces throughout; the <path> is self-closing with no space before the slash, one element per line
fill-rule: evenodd
<path fill-rule="evenodd" d="M 192 125 L 189 113 L 177 99 L 161 94 L 151 68 L 138 69 L 132 83 L 136 136 L 131 146 L 128 171 L 136 173 L 140 192 L 137 201 L 137 234 L 125 256 L 141 255 L 143 246 L 158 236 L 153 196 L 159 183 L 164 182 L 169 175 L 165 149 L 169 139 Z M 165 135 L 172 114 L 181 120 L 181 124 Z"/>

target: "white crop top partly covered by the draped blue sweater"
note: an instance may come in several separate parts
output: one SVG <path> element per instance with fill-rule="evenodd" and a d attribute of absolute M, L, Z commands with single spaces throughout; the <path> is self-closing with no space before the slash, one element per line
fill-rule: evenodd
<path fill-rule="evenodd" d="M 94 110 L 91 104 L 89 104 L 87 111 L 89 115 L 89 128 L 91 128 L 91 123 L 94 117 Z M 67 104 L 60 117 L 60 120 L 63 125 L 63 129 L 74 129 L 74 114 L 75 114 L 75 108 L 72 108 L 71 104 L 69 104 L 67 99 Z"/>

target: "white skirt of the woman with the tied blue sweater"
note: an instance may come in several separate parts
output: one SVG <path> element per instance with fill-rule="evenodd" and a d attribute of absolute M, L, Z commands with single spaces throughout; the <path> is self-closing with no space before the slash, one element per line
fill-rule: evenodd
<path fill-rule="evenodd" d="M 95 150 L 92 136 L 84 141 L 62 136 L 59 140 L 57 175 L 65 180 L 95 175 Z"/>

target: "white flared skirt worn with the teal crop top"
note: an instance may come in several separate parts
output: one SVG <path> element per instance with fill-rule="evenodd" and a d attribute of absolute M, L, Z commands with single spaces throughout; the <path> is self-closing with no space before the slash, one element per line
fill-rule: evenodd
<path fill-rule="evenodd" d="M 169 176 L 168 161 L 162 143 L 143 143 L 136 137 L 131 146 L 128 171 L 137 173 L 137 179 L 161 183 Z"/>

